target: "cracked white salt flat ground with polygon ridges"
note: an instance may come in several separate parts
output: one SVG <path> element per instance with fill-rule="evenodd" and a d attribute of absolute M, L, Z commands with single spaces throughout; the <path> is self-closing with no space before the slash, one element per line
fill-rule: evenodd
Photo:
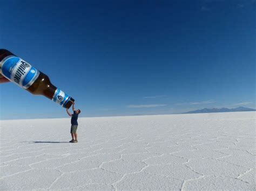
<path fill-rule="evenodd" d="M 1 190 L 255 190 L 255 114 L 1 121 Z"/>

